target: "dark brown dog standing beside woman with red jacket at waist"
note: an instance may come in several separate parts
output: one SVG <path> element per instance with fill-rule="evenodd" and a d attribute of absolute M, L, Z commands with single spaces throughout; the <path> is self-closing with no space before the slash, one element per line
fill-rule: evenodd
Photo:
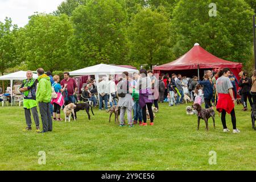
<path fill-rule="evenodd" d="M 192 105 L 193 109 L 197 111 L 197 130 L 199 130 L 199 125 L 200 125 L 200 119 L 204 119 L 205 121 L 205 129 L 209 130 L 208 128 L 208 119 L 212 117 L 213 120 L 213 127 L 215 129 L 215 112 L 212 108 L 209 109 L 202 109 L 202 107 L 199 104 L 193 104 Z"/>

